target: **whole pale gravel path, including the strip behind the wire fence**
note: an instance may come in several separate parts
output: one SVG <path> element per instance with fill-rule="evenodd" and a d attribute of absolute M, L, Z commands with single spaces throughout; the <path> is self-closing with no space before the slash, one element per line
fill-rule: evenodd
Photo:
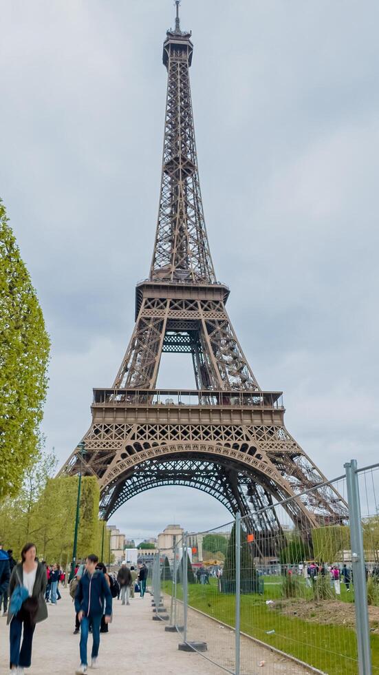
<path fill-rule="evenodd" d="M 169 607 L 169 599 L 166 599 Z M 101 635 L 99 675 L 216 675 L 225 672 L 200 654 L 181 652 L 181 642 L 175 632 L 165 632 L 164 624 L 153 621 L 151 595 L 136 596 L 129 607 L 113 601 L 113 623 L 109 633 Z M 79 663 L 79 636 L 74 629 L 74 607 L 68 591 L 62 600 L 49 606 L 49 619 L 36 627 L 30 675 L 74 674 Z M 9 658 L 9 629 L 6 617 L 0 616 L 0 675 L 6 675 Z M 188 640 L 203 640 L 208 644 L 207 656 L 234 667 L 234 632 L 208 617 L 188 610 Z M 91 645 L 91 636 L 89 636 Z M 264 661 L 264 665 L 260 663 Z M 91 673 L 89 669 L 89 674 Z M 241 637 L 241 674 L 243 675 L 304 675 L 309 671 L 277 656 L 248 638 Z"/>

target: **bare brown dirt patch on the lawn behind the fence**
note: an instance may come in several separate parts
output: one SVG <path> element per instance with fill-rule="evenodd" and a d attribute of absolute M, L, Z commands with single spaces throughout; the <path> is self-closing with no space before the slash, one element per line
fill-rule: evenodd
<path fill-rule="evenodd" d="M 356 614 L 353 603 L 343 603 L 336 600 L 278 600 L 272 605 L 272 610 L 279 611 L 286 616 L 297 616 L 304 621 L 313 623 L 343 625 L 347 628 L 356 627 Z M 369 606 L 369 623 L 372 633 L 379 635 L 379 607 Z"/>

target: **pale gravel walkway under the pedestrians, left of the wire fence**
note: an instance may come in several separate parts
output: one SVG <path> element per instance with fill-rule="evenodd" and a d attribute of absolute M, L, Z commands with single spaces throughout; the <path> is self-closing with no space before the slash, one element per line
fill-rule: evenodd
<path fill-rule="evenodd" d="M 62 592 L 62 590 L 61 590 Z M 218 675 L 219 667 L 199 654 L 180 652 L 177 633 L 166 633 L 160 621 L 153 621 L 151 595 L 136 596 L 124 607 L 113 601 L 113 623 L 100 636 L 99 675 Z M 49 606 L 49 619 L 36 626 L 30 675 L 70 675 L 79 665 L 79 636 L 73 635 L 74 606 L 68 591 L 62 600 Z M 0 674 L 8 675 L 9 629 L 0 616 Z M 89 636 L 91 645 L 91 636 Z M 93 672 L 88 669 L 89 675 Z"/>

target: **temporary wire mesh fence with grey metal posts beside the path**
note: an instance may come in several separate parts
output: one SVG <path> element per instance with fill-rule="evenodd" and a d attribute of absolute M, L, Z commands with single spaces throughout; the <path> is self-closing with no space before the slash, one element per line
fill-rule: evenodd
<path fill-rule="evenodd" d="M 379 675 L 378 478 L 379 464 L 352 460 L 318 485 L 343 497 L 338 523 L 311 526 L 304 511 L 294 525 L 292 498 L 184 534 L 155 556 L 153 618 L 233 675 Z M 316 511 L 314 489 L 305 497 Z M 271 526 L 259 530 L 263 513 Z"/>

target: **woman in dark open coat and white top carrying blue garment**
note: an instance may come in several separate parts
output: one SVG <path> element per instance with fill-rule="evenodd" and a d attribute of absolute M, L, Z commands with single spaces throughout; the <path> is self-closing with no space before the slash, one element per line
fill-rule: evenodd
<path fill-rule="evenodd" d="M 27 597 L 21 609 L 13 613 L 12 596 L 19 586 L 25 589 Z M 23 675 L 24 668 L 29 668 L 32 663 L 32 643 L 36 623 L 47 619 L 45 589 L 45 565 L 36 562 L 35 544 L 26 543 L 21 551 L 21 563 L 13 568 L 9 585 L 10 607 L 7 623 L 10 623 L 10 669 L 17 672 L 17 675 Z"/>

